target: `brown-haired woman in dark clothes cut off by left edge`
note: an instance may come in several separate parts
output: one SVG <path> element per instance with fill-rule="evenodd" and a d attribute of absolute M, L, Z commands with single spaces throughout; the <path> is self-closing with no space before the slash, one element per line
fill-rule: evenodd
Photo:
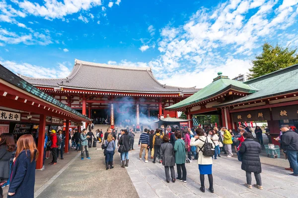
<path fill-rule="evenodd" d="M 0 196 L 3 198 L 2 185 L 9 178 L 9 159 L 15 149 L 15 141 L 10 133 L 2 133 L 0 139 Z"/>

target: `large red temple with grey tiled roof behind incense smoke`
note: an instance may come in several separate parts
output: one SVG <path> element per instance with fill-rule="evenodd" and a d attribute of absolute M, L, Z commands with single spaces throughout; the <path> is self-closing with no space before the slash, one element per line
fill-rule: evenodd
<path fill-rule="evenodd" d="M 147 120 L 167 114 L 177 117 L 177 111 L 165 108 L 199 91 L 195 87 L 162 85 L 154 78 L 150 67 L 116 66 L 77 59 L 66 78 L 19 76 L 95 122 L 96 118 L 110 119 L 112 128 L 124 117 L 134 120 L 137 129 L 142 117 Z"/>

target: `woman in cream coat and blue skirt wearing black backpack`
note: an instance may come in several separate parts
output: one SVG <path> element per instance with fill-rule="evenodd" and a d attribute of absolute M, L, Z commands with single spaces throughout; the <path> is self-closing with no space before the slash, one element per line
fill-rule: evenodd
<path fill-rule="evenodd" d="M 214 154 L 215 144 L 210 137 L 205 136 L 203 129 L 196 129 L 196 136 L 190 140 L 190 146 L 197 147 L 198 165 L 200 171 L 200 190 L 205 193 L 205 175 L 208 175 L 209 191 L 214 193 L 213 175 L 212 175 L 212 156 Z M 212 150 L 213 149 L 213 150 Z"/>

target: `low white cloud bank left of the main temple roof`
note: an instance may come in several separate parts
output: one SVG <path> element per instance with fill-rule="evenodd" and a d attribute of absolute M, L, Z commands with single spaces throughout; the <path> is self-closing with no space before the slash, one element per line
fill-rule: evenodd
<path fill-rule="evenodd" d="M 0 58 L 0 64 L 13 73 L 35 78 L 65 78 L 71 70 L 68 68 L 69 62 L 58 63 L 52 68 L 32 65 L 16 61 L 3 60 Z"/>

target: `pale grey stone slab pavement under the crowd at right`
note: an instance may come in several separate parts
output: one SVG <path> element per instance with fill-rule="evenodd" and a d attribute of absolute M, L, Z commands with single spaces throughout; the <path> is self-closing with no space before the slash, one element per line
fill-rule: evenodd
<path fill-rule="evenodd" d="M 186 164 L 187 183 L 165 181 L 164 167 L 152 159 L 145 163 L 139 159 L 139 135 L 135 137 L 135 150 L 130 151 L 128 174 L 140 198 L 298 198 L 298 178 L 288 176 L 289 171 L 282 167 L 262 164 L 262 185 L 264 190 L 246 188 L 245 172 L 241 170 L 241 162 L 237 158 L 227 158 L 223 154 L 213 162 L 214 194 L 206 190 L 200 191 L 200 177 L 197 161 Z M 150 155 L 149 155 L 150 156 Z M 282 160 L 282 159 L 280 159 Z M 157 160 L 156 160 L 157 161 Z M 176 171 L 176 166 L 175 166 Z M 176 172 L 177 177 L 177 172 Z M 252 176 L 252 183 L 255 183 Z M 209 188 L 208 177 L 205 176 L 205 188 Z"/>

